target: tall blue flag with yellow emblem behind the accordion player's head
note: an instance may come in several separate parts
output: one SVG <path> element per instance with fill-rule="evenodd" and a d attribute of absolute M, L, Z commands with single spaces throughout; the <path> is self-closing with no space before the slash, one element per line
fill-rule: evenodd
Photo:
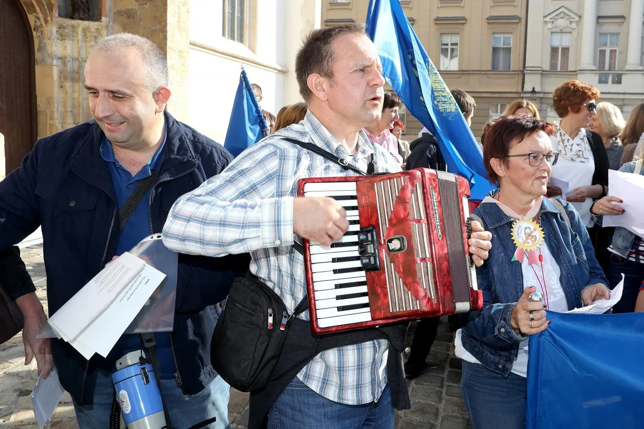
<path fill-rule="evenodd" d="M 481 150 L 399 0 L 371 0 L 366 25 L 383 63 L 384 78 L 407 110 L 436 137 L 450 173 L 469 180 L 471 199 L 485 198 L 495 186 L 488 181 Z"/>

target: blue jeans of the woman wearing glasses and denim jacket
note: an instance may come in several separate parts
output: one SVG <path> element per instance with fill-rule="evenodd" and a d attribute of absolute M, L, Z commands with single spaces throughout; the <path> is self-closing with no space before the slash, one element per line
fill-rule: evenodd
<path fill-rule="evenodd" d="M 512 372 L 504 377 L 483 365 L 463 361 L 463 402 L 472 429 L 524 429 L 526 379 Z"/>

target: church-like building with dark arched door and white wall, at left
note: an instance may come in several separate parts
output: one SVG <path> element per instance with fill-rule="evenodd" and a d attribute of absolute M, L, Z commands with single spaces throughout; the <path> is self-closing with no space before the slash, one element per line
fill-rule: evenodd
<path fill-rule="evenodd" d="M 266 110 L 301 100 L 295 53 L 319 28 L 321 1 L 0 1 L 0 178 L 37 138 L 92 119 L 84 66 L 92 46 L 112 33 L 142 35 L 166 54 L 168 110 L 219 142 L 241 66 L 263 88 Z"/>

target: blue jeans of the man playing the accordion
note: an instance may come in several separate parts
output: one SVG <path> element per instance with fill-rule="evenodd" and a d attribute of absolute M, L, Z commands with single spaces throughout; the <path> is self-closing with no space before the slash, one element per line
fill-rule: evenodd
<path fill-rule="evenodd" d="M 320 396 L 296 377 L 270 408 L 268 429 L 393 429 L 389 385 L 377 402 L 345 405 Z"/>

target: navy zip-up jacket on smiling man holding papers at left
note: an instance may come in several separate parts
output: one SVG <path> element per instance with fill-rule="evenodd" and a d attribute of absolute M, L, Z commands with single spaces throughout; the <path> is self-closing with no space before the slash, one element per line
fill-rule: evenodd
<path fill-rule="evenodd" d="M 165 115 L 166 148 L 147 202 L 151 233 L 162 231 L 179 196 L 221 173 L 232 160 L 222 146 Z M 0 251 L 42 226 L 50 315 L 117 252 L 118 205 L 108 165 L 100 157 L 103 137 L 92 120 L 42 138 L 0 182 Z M 180 254 L 178 262 L 173 348 L 182 390 L 194 395 L 216 377 L 210 363 L 214 304 L 226 297 L 236 276 L 245 274 L 249 259 Z M 12 291 L 14 296 L 24 293 Z M 59 339 L 52 340 L 52 350 L 62 386 L 82 405 L 92 402 L 97 368 L 113 372 L 120 358 L 111 353 L 87 361 Z"/>

